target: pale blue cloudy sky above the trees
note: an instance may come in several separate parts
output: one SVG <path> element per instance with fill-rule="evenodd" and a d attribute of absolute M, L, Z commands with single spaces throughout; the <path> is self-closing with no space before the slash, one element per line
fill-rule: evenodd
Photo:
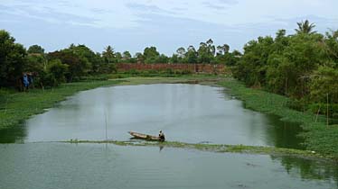
<path fill-rule="evenodd" d="M 258 36 L 295 33 L 308 19 L 316 31 L 338 29 L 337 0 L 0 0 L 0 30 L 26 48 L 85 44 L 132 54 L 155 46 L 166 55 L 212 39 L 242 50 Z"/>

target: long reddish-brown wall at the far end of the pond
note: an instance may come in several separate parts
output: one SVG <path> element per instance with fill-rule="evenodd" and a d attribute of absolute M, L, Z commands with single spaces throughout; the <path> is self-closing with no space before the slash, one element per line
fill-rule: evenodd
<path fill-rule="evenodd" d="M 166 70 L 171 68 L 173 70 L 189 70 L 192 73 L 208 73 L 208 74 L 224 74 L 226 73 L 226 67 L 224 65 L 213 65 L 213 64 L 127 64 L 118 63 L 118 71 L 128 71 L 131 69 L 135 70 Z"/>

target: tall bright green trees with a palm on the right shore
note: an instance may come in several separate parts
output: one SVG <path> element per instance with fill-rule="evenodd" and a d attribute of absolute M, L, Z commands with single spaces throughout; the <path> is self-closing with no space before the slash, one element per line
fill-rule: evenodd
<path fill-rule="evenodd" d="M 297 110 L 338 118 L 338 31 L 318 33 L 307 20 L 297 25 L 292 35 L 279 30 L 275 38 L 250 40 L 233 76 L 290 97 Z"/>

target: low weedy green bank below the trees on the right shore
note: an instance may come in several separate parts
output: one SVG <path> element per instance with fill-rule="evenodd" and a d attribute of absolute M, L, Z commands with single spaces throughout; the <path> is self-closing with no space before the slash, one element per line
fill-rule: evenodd
<path fill-rule="evenodd" d="M 278 94 L 271 94 L 262 90 L 248 88 L 234 79 L 225 79 L 218 83 L 230 89 L 244 101 L 245 106 L 258 112 L 276 114 L 285 121 L 301 124 L 305 133 L 305 146 L 308 150 L 316 151 L 324 156 L 338 158 L 338 125 L 326 126 L 324 117 L 315 122 L 315 115 L 310 112 L 298 112 L 288 107 L 289 99 Z"/>

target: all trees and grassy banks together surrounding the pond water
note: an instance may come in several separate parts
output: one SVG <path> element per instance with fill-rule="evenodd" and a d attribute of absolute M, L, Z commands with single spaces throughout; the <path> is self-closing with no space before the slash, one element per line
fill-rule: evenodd
<path fill-rule="evenodd" d="M 155 47 L 134 56 L 111 46 L 99 53 L 74 44 L 45 52 L 39 45 L 25 49 L 3 30 L 0 52 L 0 130 L 15 127 L 71 94 L 103 85 L 209 81 L 227 88 L 247 108 L 300 123 L 305 131 L 299 137 L 311 156 L 338 159 L 338 31 L 322 34 L 308 21 L 298 23 L 294 34 L 279 30 L 274 37 L 250 40 L 242 52 L 230 51 L 227 44 L 215 46 L 211 39 L 198 48 L 178 48 L 171 57 Z M 224 65 L 227 71 L 220 75 L 170 66 L 118 71 L 121 63 Z M 260 148 L 249 151 L 255 150 Z"/>

